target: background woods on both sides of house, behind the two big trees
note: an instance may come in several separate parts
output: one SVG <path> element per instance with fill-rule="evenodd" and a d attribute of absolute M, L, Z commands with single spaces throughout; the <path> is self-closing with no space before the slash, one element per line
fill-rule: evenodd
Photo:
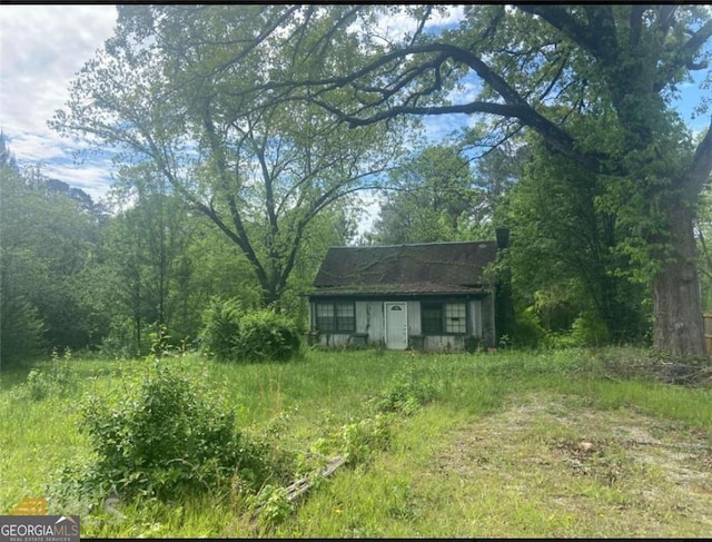
<path fill-rule="evenodd" d="M 122 179 L 96 204 L 39 168 L 21 171 L 4 138 L 0 145 L 3 363 L 51 347 L 144 355 L 158 333 L 195 348 L 215 299 L 265 306 L 239 247 L 158 178 Z M 624 226 L 594 205 L 595 181 L 570 178 L 582 175 L 535 146 L 501 148 L 475 167 L 462 141 L 414 150 L 384 181 L 380 213 L 363 237 L 353 203 L 319 214 L 269 306 L 306 331 L 301 294 L 330 245 L 493 239 L 505 226 L 510 248 L 492 269 L 514 300 L 513 317 L 498 322 L 502 345 L 647 342 L 649 288 L 616 252 Z"/>

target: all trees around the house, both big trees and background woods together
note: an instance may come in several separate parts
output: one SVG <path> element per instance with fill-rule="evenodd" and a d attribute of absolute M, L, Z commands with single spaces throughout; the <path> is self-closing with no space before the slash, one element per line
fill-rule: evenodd
<path fill-rule="evenodd" d="M 712 130 L 671 104 L 708 69 L 708 7 L 117 9 L 49 121 L 116 152 L 107 201 L 2 148 L 3 359 L 194 344 L 214 296 L 306 325 L 327 246 L 502 227 L 502 344 L 704 355 Z"/>

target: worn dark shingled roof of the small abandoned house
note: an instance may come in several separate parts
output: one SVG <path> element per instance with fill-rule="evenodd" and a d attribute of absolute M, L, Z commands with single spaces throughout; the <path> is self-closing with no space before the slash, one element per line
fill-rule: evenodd
<path fill-rule="evenodd" d="M 495 242 L 330 247 L 312 295 L 472 294 L 483 292 Z"/>

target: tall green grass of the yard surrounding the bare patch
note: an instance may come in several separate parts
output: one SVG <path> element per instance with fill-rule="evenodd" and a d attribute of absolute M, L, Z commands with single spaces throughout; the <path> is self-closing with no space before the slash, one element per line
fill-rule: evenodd
<path fill-rule="evenodd" d="M 643 354 L 629 348 L 616 356 L 625 361 Z M 426 481 L 419 480 L 418 473 L 432 462 L 432 445 L 531 392 L 575 397 L 578 404 L 596 410 L 632 408 L 712 434 L 709 387 L 689 390 L 645 378 L 610 378 L 601 356 L 589 351 L 501 351 L 495 355 L 310 351 L 304 359 L 291 363 L 235 365 L 197 355 L 165 358 L 162 363 L 207 382 L 228 400 L 240 426 L 305 455 L 315 442 L 344 424 L 373 415 L 384 391 L 393 391 L 403 380 L 427 384 L 432 401 L 413 415 L 396 413 L 388 450 L 374 451 L 369 465 L 347 470 L 320 484 L 280 525 L 267 528 L 241 518 L 230 495 L 205 500 L 176 495 L 169 504 L 122 503 L 120 523 L 89 522 L 82 534 L 468 536 L 506 535 L 503 529 L 510 525 L 522 535 L 576 535 L 576 522 L 566 514 L 542 520 L 543 511 L 527 509 L 535 504 L 502 489 L 473 493 L 463 487 L 453 493 L 451 485 L 424 486 Z M 58 469 L 73 456 L 90 453 L 86 436 L 77 431 L 79 404 L 86 393 L 126 386 L 129 378 L 147 371 L 145 361 L 73 359 L 76 390 L 71 395 L 30 401 L 21 393 L 22 383 L 32 368 L 44 366 L 38 363 L 2 374 L 0 513 L 8 513 L 22 497 L 42 496 Z M 500 497 L 493 496 L 501 492 Z M 348 514 L 345 495 L 350 495 Z M 498 530 L 477 528 L 488 506 L 502 506 L 507 499 L 511 511 L 501 518 Z M 436 513 L 438 506 L 447 506 L 449 512 Z M 463 522 L 463 516 L 471 516 L 469 523 Z"/>

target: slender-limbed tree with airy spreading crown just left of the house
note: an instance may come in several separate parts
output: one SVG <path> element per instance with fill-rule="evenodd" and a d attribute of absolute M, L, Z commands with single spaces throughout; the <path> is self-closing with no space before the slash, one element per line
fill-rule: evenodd
<path fill-rule="evenodd" d="M 150 164 L 239 247 L 263 304 L 278 303 L 315 218 L 377 186 L 398 154 L 397 130 L 353 131 L 315 105 L 246 99 L 293 69 L 290 43 L 309 41 L 300 20 L 328 29 L 348 11 L 119 7 L 116 36 L 79 72 L 52 126 L 120 148 L 123 164 Z M 347 67 L 353 45 L 330 61 Z"/>

